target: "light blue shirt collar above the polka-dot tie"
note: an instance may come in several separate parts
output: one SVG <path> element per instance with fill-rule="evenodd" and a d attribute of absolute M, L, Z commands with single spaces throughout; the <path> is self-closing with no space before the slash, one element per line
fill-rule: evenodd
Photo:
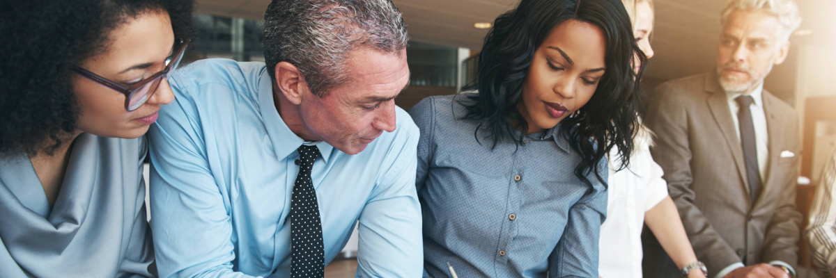
<path fill-rule="evenodd" d="M 319 149 L 325 163 L 334 151 L 334 147 L 325 141 L 305 141 L 290 130 L 288 124 L 284 123 L 282 116 L 278 114 L 276 104 L 273 101 L 273 79 L 270 78 L 267 68 L 263 69 L 261 80 L 258 82 L 258 105 L 261 112 L 265 129 L 273 143 L 273 149 L 278 159 L 285 159 L 293 154 L 302 144 L 315 145 Z"/>

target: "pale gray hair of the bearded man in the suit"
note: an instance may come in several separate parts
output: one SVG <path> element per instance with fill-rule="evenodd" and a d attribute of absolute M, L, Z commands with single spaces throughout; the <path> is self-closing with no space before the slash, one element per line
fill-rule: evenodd
<path fill-rule="evenodd" d="M 726 19 L 734 10 L 763 10 L 778 18 L 783 27 L 782 39 L 788 40 L 795 29 L 801 26 L 798 4 L 793 0 L 730 0 L 720 13 L 720 24 L 726 25 Z"/>

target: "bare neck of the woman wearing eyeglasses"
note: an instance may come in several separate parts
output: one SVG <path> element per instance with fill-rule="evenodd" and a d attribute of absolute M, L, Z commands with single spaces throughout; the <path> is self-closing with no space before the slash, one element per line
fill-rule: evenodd
<path fill-rule="evenodd" d="M 43 193 L 47 196 L 50 207 L 58 199 L 61 184 L 64 183 L 64 174 L 67 172 L 67 164 L 69 163 L 69 148 L 75 139 L 79 137 L 79 134 L 81 134 L 80 130 L 70 134 L 67 140 L 64 141 L 64 144 L 53 149 L 51 153 L 42 150 L 38 154 L 29 157 L 32 161 L 32 167 L 35 169 L 35 174 L 38 175 L 38 180 L 40 180 L 41 186 L 43 187 Z M 48 142 L 50 143 L 46 145 L 54 144 L 53 140 L 49 140 Z"/>

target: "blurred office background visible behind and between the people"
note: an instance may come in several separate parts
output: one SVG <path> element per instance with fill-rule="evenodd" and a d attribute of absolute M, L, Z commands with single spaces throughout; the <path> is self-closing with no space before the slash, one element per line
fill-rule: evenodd
<path fill-rule="evenodd" d="M 490 23 L 517 0 L 393 0 L 410 33 L 407 58 L 411 84 L 396 103 L 410 109 L 431 95 L 456 94 L 475 78 L 477 54 Z M 798 205 L 807 213 L 813 185 L 836 149 L 836 1 L 796 0 L 803 17 L 788 60 L 773 68 L 765 88 L 798 110 L 803 154 Z M 270 0 L 197 0 L 197 38 L 186 63 L 202 58 L 263 61 L 262 23 Z M 725 0 L 654 0 L 655 57 L 643 83 L 659 83 L 716 67 L 719 13 Z M 487 28 L 486 28 L 487 27 Z M 808 181 L 809 178 L 812 179 Z M 806 218 L 806 217 L 805 217 Z M 804 224 L 806 225 L 806 223 Z M 801 244 L 801 243 L 799 243 Z M 809 265 L 806 246 L 802 265 Z M 344 255 L 356 254 L 356 237 Z M 326 277 L 353 277 L 354 262 L 329 265 Z"/>

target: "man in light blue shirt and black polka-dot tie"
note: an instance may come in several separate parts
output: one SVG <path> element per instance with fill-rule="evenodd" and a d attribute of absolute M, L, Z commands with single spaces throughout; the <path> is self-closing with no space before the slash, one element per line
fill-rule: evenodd
<path fill-rule="evenodd" d="M 358 220 L 359 277 L 421 276 L 406 41 L 390 0 L 274 0 L 266 64 L 175 73 L 150 131 L 160 276 L 321 278 Z"/>

